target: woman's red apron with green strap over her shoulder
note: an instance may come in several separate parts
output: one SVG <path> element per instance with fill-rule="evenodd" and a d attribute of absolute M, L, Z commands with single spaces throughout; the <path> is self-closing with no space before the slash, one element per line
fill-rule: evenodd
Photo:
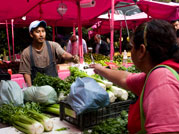
<path fill-rule="evenodd" d="M 160 67 L 165 67 L 169 69 L 174 76 L 179 80 L 179 75 L 178 73 L 172 69 L 171 67 L 167 65 L 158 65 L 154 67 L 147 75 L 144 87 L 142 89 L 140 97 L 137 99 L 137 101 L 134 104 L 131 104 L 129 107 L 129 113 L 128 113 L 128 130 L 129 134 L 145 134 L 145 115 L 144 115 L 144 110 L 143 110 L 143 96 L 144 96 L 144 90 L 145 90 L 145 85 L 147 83 L 148 77 L 150 73 Z"/>

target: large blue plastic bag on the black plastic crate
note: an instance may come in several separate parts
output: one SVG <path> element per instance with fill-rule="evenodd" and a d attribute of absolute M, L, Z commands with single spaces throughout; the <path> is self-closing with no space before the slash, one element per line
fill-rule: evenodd
<path fill-rule="evenodd" d="M 67 101 L 79 115 L 109 105 L 109 95 L 94 79 L 78 77 L 71 85 Z"/>

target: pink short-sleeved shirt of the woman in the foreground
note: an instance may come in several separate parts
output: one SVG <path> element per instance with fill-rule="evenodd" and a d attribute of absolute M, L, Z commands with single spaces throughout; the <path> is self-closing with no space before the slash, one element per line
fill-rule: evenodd
<path fill-rule="evenodd" d="M 127 78 L 128 87 L 139 95 L 145 77 L 144 73 L 130 75 Z M 149 76 L 143 108 L 145 128 L 149 134 L 179 132 L 179 82 L 168 69 L 158 68 Z"/>

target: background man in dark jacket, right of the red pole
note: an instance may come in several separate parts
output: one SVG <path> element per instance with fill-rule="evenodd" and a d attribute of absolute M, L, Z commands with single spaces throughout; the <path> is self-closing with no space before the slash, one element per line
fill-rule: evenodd
<path fill-rule="evenodd" d="M 103 54 L 105 56 L 108 56 L 110 53 L 109 52 L 110 49 L 109 49 L 108 44 L 105 41 L 101 40 L 101 35 L 96 34 L 94 36 L 94 41 L 96 43 L 96 46 L 95 48 L 93 48 L 93 53 L 98 53 L 98 54 Z"/>

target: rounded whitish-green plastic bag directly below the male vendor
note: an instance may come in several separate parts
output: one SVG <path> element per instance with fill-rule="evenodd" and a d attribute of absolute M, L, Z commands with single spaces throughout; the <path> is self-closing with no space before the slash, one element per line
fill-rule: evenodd
<path fill-rule="evenodd" d="M 54 104 L 57 102 L 57 93 L 51 86 L 31 86 L 24 90 L 25 101 L 38 102 L 40 104 Z"/>

